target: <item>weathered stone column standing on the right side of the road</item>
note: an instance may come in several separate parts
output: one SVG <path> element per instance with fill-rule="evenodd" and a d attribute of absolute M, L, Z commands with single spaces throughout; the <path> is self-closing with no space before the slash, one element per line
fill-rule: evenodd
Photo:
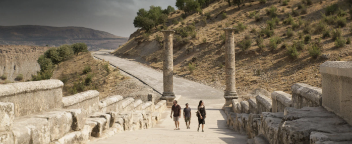
<path fill-rule="evenodd" d="M 232 105 L 232 99 L 238 99 L 236 92 L 236 70 L 234 63 L 234 30 L 235 28 L 225 28 L 225 84 L 224 106 Z"/>

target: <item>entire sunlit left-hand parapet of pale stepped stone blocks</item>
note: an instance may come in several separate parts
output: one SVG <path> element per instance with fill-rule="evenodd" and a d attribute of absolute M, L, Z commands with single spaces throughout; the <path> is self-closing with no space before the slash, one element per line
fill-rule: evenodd
<path fill-rule="evenodd" d="M 89 90 L 63 97 L 60 80 L 0 85 L 0 143 L 85 143 L 152 128 L 166 101 L 114 95 L 99 101 Z"/>

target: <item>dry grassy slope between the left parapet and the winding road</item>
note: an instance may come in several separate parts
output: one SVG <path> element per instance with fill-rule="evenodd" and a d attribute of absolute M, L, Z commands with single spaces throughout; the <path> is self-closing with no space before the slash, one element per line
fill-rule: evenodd
<path fill-rule="evenodd" d="M 58 65 L 51 79 L 64 82 L 64 96 L 91 89 L 99 91 L 99 99 L 121 95 L 147 101 L 148 93 L 160 96 L 138 79 L 106 64 L 106 62 L 94 59 L 89 52 L 81 53 Z M 90 68 L 88 73 L 83 72 L 86 67 Z"/>

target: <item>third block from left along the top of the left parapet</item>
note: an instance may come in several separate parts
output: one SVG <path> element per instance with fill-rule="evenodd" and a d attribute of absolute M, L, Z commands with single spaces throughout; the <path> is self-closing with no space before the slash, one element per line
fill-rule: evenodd
<path fill-rule="evenodd" d="M 120 104 L 119 101 L 123 99 L 124 98 L 121 95 L 113 95 L 102 99 L 99 101 L 99 112 L 118 112 L 118 105 Z"/>

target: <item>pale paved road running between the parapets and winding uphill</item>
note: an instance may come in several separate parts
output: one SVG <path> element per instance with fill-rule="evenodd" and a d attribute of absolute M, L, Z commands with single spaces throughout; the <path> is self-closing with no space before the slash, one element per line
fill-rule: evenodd
<path fill-rule="evenodd" d="M 109 61 L 111 65 L 138 77 L 162 93 L 162 73 L 133 61 L 109 55 L 110 51 L 95 52 L 94 56 Z M 189 103 L 192 108 L 191 129 L 181 118 L 181 130 L 173 130 L 174 124 L 170 109 L 163 112 L 163 119 L 151 129 L 125 131 L 112 137 L 89 143 L 246 143 L 247 136 L 230 130 L 226 126 L 225 113 L 221 110 L 225 99 L 223 92 L 182 78 L 174 77 L 174 93 L 182 95 L 179 104 L 182 108 Z M 197 132 L 198 120 L 195 116 L 199 100 L 207 109 L 205 132 Z"/>

